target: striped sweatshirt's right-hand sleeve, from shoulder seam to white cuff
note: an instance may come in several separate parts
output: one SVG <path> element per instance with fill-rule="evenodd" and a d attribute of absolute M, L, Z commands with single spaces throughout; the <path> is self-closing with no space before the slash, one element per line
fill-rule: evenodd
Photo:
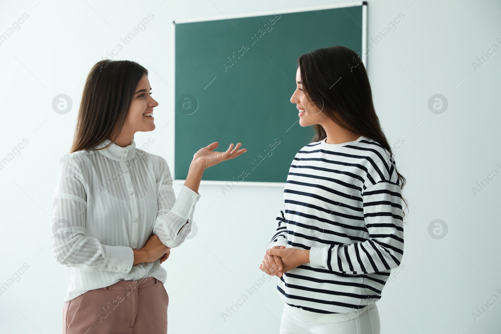
<path fill-rule="evenodd" d="M 369 239 L 350 245 L 311 247 L 312 266 L 348 274 L 372 273 L 400 265 L 404 248 L 401 187 L 380 181 L 362 194 Z"/>

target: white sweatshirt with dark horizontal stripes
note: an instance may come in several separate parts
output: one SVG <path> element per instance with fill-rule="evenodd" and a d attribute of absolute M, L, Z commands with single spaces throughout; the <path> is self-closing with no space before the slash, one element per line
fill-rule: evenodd
<path fill-rule="evenodd" d="M 304 146 L 290 166 L 276 223 L 267 248 L 310 250 L 309 263 L 280 277 L 282 300 L 305 314 L 360 312 L 381 298 L 403 256 L 393 155 L 365 136 Z"/>

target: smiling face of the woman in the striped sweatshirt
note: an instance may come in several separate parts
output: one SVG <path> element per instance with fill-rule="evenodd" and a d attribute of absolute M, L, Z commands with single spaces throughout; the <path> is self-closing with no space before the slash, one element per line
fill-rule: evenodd
<path fill-rule="evenodd" d="M 296 71 L 297 88 L 291 96 L 291 102 L 297 105 L 299 111 L 299 124 L 301 126 L 309 126 L 314 124 L 322 124 L 326 117 L 322 114 L 322 103 L 319 106 L 312 98 L 309 98 L 304 92 L 301 84 L 301 70 L 298 67 Z"/>

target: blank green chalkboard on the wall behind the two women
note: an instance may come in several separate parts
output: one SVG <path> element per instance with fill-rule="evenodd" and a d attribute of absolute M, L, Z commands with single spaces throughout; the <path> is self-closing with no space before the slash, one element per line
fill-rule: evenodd
<path fill-rule="evenodd" d="M 297 59 L 335 45 L 361 55 L 362 7 L 175 22 L 174 179 L 217 141 L 216 151 L 240 142 L 247 152 L 208 168 L 204 180 L 286 182 L 314 135 L 290 101 Z"/>

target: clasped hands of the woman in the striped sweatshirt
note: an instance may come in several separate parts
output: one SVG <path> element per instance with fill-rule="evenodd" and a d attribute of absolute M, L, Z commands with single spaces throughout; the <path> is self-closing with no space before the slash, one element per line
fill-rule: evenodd
<path fill-rule="evenodd" d="M 310 250 L 273 246 L 266 250 L 259 268 L 271 276 L 282 277 L 284 272 L 310 262 Z"/>

